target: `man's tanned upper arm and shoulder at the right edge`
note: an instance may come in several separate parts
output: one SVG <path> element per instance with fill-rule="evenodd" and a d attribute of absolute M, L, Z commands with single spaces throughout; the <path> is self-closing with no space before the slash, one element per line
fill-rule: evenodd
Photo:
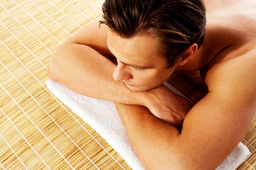
<path fill-rule="evenodd" d="M 216 169 L 237 147 L 256 114 L 255 68 L 251 50 L 208 70 L 209 93 L 188 112 L 177 140 L 185 166 Z"/>

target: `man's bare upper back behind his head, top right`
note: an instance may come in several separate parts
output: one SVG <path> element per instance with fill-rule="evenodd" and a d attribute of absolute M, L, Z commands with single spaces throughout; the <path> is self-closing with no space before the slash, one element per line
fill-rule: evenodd
<path fill-rule="evenodd" d="M 213 76 L 229 74 L 229 69 L 232 71 L 233 65 L 235 67 L 238 62 L 243 65 L 239 65 L 237 70 L 256 65 L 256 1 L 205 0 L 205 5 L 207 18 L 205 44 L 208 46 L 208 51 L 205 52 L 207 62 L 200 73 L 209 87 L 210 83 L 214 82 L 211 81 Z M 220 43 L 224 42 L 222 48 L 217 51 L 212 50 L 215 47 L 211 47 L 209 42 L 211 37 L 207 34 L 220 36 Z M 243 59 L 235 60 L 234 58 L 237 57 Z M 251 71 L 256 75 L 255 70 Z"/>

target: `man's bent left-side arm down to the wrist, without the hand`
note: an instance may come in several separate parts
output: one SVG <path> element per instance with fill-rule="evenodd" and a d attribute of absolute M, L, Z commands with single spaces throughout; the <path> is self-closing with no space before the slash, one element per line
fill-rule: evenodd
<path fill-rule="evenodd" d="M 110 56 L 106 29 L 103 24 L 99 28 L 95 21 L 72 35 L 51 56 L 48 75 L 85 96 L 143 105 L 143 92 L 133 92 L 112 78 L 116 65 L 105 57 Z"/>

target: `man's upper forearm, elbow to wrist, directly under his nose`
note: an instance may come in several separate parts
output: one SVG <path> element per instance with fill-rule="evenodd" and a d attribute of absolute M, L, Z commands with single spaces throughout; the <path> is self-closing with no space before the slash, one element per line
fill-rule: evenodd
<path fill-rule="evenodd" d="M 80 44 L 63 44 L 52 55 L 49 77 L 76 93 L 113 102 L 142 105 L 142 93 L 133 92 L 123 82 L 116 82 L 116 68 L 106 57 Z"/>

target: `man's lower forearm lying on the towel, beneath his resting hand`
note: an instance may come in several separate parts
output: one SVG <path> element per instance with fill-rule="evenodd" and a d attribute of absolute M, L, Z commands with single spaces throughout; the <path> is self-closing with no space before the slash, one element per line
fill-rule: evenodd
<path fill-rule="evenodd" d="M 147 170 L 179 167 L 180 131 L 155 118 L 143 106 L 115 103 L 131 144 Z M 154 147 L 153 147 L 154 146 Z M 178 168 L 177 168 L 178 170 Z"/>

